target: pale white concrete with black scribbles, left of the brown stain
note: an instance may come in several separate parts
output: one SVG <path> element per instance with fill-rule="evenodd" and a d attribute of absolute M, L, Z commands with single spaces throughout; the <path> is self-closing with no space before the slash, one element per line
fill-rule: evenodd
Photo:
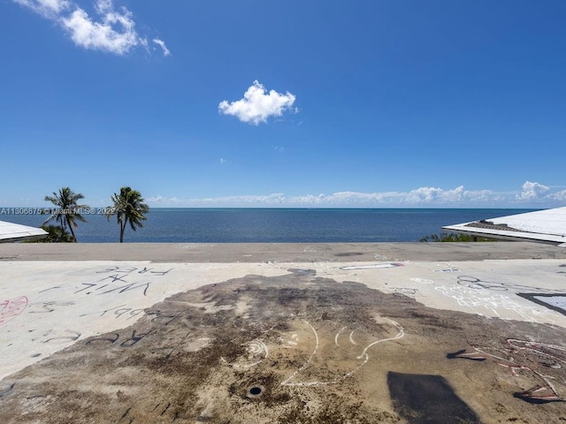
<path fill-rule="evenodd" d="M 173 294 L 254 274 L 262 265 L 0 263 L 0 378 L 78 340 L 127 327 Z M 285 273 L 263 268 L 263 275 Z"/>

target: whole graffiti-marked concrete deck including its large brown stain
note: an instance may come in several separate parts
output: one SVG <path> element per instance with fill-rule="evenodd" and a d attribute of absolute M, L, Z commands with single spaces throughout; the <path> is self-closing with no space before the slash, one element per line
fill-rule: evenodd
<path fill-rule="evenodd" d="M 563 250 L 471 245 L 25 246 L 0 261 L 0 422 L 566 420 Z"/>

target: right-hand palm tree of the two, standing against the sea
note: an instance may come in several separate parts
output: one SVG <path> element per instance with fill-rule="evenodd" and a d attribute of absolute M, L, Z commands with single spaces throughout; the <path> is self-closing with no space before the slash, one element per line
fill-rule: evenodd
<path fill-rule="evenodd" d="M 120 243 L 124 242 L 124 231 L 126 231 L 127 223 L 130 224 L 132 230 L 136 227 L 142 227 L 142 221 L 147 218 L 144 214 L 149 212 L 149 206 L 143 203 L 142 194 L 130 187 L 120 188 L 120 193 L 114 193 L 111 197 L 113 206 L 109 207 L 110 212 L 106 215 L 110 221 L 111 216 L 118 218 L 120 226 Z"/>

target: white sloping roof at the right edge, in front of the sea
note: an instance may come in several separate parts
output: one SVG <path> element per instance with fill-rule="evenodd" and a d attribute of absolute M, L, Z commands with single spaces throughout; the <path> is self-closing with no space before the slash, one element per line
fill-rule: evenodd
<path fill-rule="evenodd" d="M 501 216 L 442 227 L 477 237 L 537 241 L 566 246 L 566 207 Z"/>

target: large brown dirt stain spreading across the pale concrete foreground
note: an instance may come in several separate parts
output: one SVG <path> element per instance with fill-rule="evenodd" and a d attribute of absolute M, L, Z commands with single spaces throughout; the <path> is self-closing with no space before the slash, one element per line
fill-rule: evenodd
<path fill-rule="evenodd" d="M 442 376 L 473 422 L 566 420 L 561 402 L 513 396 L 549 373 L 566 396 L 562 351 L 555 362 L 521 356 L 509 339 L 556 346 L 565 337 L 561 328 L 436 310 L 310 269 L 246 276 L 179 293 L 127 329 L 10 375 L 0 422 L 411 422 L 389 373 Z M 477 348 L 490 360 L 447 358 Z"/>

